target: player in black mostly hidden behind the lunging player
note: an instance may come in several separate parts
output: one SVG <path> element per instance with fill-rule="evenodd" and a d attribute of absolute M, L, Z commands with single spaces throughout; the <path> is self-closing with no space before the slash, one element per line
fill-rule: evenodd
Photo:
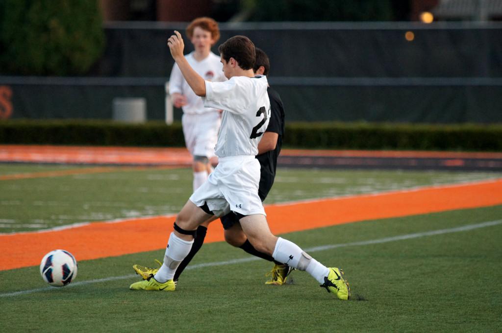
<path fill-rule="evenodd" d="M 263 50 L 256 48 L 256 61 L 255 66 L 253 67 L 255 75 L 268 75 L 269 70 L 269 57 Z M 284 106 L 281 97 L 271 87 L 267 89 L 267 92 L 270 99 L 271 117 L 269 120 L 269 126 L 267 127 L 267 130 L 263 134 L 263 137 L 258 145 L 258 155 L 256 156 L 261 165 L 261 178 L 258 195 L 260 196 L 260 199 L 262 199 L 262 202 L 265 200 L 272 188 L 272 185 L 274 184 L 277 169 L 277 157 L 281 152 L 282 139 L 284 136 Z M 266 284 L 282 285 L 286 283 L 287 276 L 292 271 L 291 267 L 275 261 L 272 256 L 259 252 L 255 249 L 255 247 L 247 240 L 240 227 L 239 220 L 234 213 L 230 212 L 229 214 L 221 217 L 220 220 L 223 224 L 223 228 L 225 229 L 225 240 L 227 243 L 232 246 L 239 247 L 249 254 L 268 261 L 274 261 L 274 268 L 269 273 L 272 277 L 269 281 L 265 282 Z M 205 226 L 201 225 L 198 227 L 197 236 L 195 237 L 190 252 L 176 270 L 173 278 L 175 283 L 177 283 L 185 267 L 202 247 L 209 222 L 204 223 Z M 134 265 L 133 268 L 136 273 L 140 274 L 144 279 L 150 278 L 152 274 L 155 275 L 157 272 L 157 269 L 143 265 Z"/>

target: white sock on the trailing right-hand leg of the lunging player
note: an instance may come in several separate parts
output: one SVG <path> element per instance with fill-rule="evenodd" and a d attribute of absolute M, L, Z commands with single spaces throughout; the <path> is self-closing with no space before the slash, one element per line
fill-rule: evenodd
<path fill-rule="evenodd" d="M 279 237 L 272 254 L 275 260 L 283 262 L 293 268 L 307 271 L 319 283 L 324 283 L 329 269 L 305 253 L 298 245 Z"/>

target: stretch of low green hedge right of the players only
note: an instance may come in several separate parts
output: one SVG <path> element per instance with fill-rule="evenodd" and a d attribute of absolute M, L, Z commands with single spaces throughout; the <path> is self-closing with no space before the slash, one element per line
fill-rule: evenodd
<path fill-rule="evenodd" d="M 308 148 L 502 150 L 502 124 L 292 123 L 286 144 Z"/>

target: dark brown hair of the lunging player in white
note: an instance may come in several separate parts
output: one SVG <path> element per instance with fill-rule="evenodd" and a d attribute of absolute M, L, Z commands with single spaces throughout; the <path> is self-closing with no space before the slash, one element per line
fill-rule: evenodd
<path fill-rule="evenodd" d="M 230 37 L 218 47 L 218 51 L 226 62 L 233 58 L 244 70 L 253 69 L 255 65 L 255 44 L 245 36 Z"/>

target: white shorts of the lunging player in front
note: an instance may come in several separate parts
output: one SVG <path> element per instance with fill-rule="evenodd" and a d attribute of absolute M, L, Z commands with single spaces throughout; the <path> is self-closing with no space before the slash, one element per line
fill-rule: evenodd
<path fill-rule="evenodd" d="M 242 215 L 265 215 L 258 196 L 260 162 L 255 156 L 230 156 L 218 159 L 216 169 L 190 197 L 197 207 L 207 204 L 220 217 L 230 211 Z"/>

